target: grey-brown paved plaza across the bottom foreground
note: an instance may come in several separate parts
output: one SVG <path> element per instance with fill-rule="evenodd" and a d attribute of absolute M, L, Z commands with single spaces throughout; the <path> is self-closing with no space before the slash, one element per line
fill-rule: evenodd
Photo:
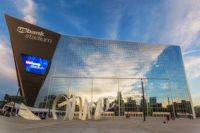
<path fill-rule="evenodd" d="M 0 116 L 0 133 L 200 133 L 200 119 L 176 119 L 163 123 L 164 118 L 109 118 L 88 120 L 28 121 L 19 117 Z"/>

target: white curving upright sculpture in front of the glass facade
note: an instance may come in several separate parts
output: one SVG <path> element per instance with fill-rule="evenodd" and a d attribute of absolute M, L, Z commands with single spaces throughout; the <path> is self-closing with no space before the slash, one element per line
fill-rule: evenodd
<path fill-rule="evenodd" d="M 84 100 L 84 106 L 82 104 L 82 98 L 81 97 L 77 97 L 75 95 L 71 95 L 71 94 L 61 94 L 58 95 L 52 105 L 52 114 L 53 114 L 53 119 L 57 120 L 57 115 L 56 115 L 56 106 L 58 101 L 64 98 L 65 101 L 62 103 L 58 104 L 58 107 L 63 107 L 66 106 L 66 110 L 65 110 L 65 116 L 63 118 L 63 120 L 73 120 L 74 119 L 74 113 L 75 113 L 75 107 L 77 104 L 77 100 L 78 100 L 78 107 L 79 107 L 79 119 L 80 120 L 87 120 L 87 119 L 91 119 L 92 117 L 92 107 L 93 107 L 93 103 L 89 103 L 88 100 L 85 98 Z M 104 99 L 103 98 L 99 98 L 96 104 L 96 109 L 95 109 L 95 113 L 94 113 L 94 120 L 100 120 L 101 119 L 101 114 L 103 112 L 103 105 L 102 105 L 102 101 Z M 115 106 L 115 104 L 112 105 L 112 107 L 110 107 L 110 103 L 109 100 L 106 99 L 106 107 L 105 107 L 105 111 L 108 111 L 109 109 L 113 108 Z"/>

